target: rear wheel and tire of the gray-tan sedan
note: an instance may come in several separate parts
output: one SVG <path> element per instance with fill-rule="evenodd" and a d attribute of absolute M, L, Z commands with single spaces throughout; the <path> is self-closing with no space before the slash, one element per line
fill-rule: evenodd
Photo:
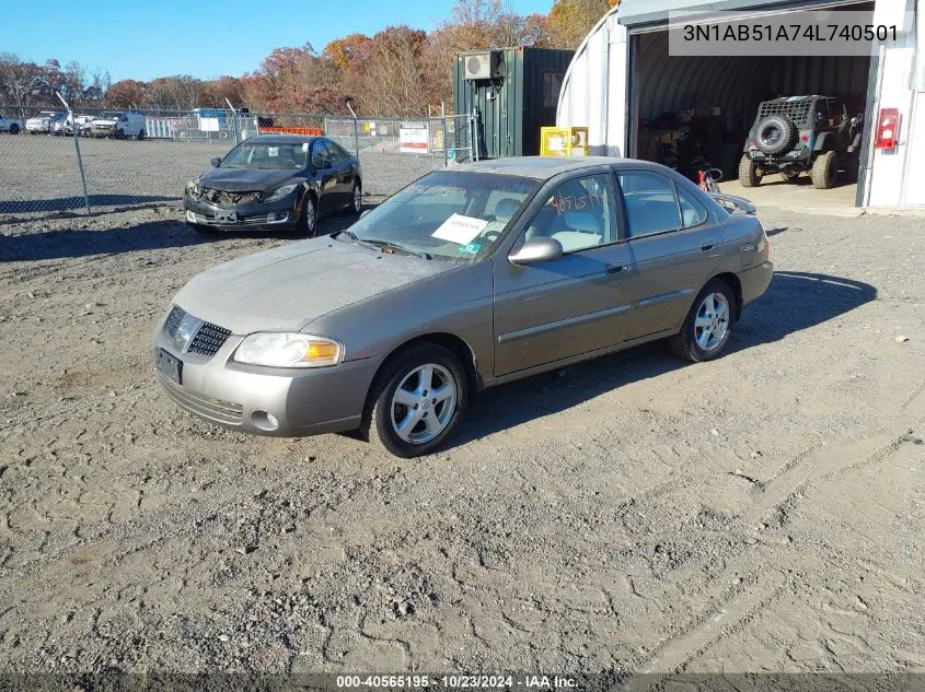
<path fill-rule="evenodd" d="M 713 298 L 712 304 L 709 298 Z M 736 294 L 728 283 L 722 279 L 707 282 L 691 305 L 681 331 L 671 338 L 671 350 L 678 357 L 692 363 L 719 357 L 732 335 L 736 307 Z M 721 333 L 715 331 L 717 328 Z"/>

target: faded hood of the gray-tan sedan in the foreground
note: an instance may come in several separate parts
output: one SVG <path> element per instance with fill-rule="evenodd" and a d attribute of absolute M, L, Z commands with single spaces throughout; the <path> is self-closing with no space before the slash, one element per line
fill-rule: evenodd
<path fill-rule="evenodd" d="M 189 281 L 174 303 L 240 336 L 299 331 L 322 315 L 459 267 L 322 237 L 219 265 Z"/>

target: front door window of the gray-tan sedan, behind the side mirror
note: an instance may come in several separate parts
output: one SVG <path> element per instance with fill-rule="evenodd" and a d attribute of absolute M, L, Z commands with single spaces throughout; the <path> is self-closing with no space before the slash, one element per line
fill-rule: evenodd
<path fill-rule="evenodd" d="M 573 178 L 553 192 L 536 212 L 525 239 L 558 241 L 565 253 L 575 253 L 616 239 L 613 190 L 606 174 Z"/>

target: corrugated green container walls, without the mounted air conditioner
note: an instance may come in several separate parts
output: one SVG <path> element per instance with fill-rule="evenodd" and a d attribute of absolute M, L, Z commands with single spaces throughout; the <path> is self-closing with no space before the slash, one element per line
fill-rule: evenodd
<path fill-rule="evenodd" d="M 540 153 L 540 128 L 555 125 L 555 105 L 543 107 L 546 72 L 564 74 L 570 50 L 506 48 L 505 77 L 488 80 L 463 79 L 464 55 L 456 57 L 453 83 L 455 113 L 477 109 L 483 157 L 529 156 Z"/>

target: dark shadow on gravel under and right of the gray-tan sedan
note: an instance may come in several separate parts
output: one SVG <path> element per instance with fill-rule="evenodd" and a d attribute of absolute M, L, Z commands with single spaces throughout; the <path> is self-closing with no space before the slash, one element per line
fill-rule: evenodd
<path fill-rule="evenodd" d="M 767 292 L 745 306 L 729 343 L 730 352 L 778 341 L 834 320 L 877 297 L 877 290 L 851 279 L 779 271 Z M 632 382 L 691 365 L 656 341 L 564 370 L 488 389 L 466 414 L 448 446 L 478 439 L 557 413 Z M 691 365 L 697 367 L 697 365 Z"/>

